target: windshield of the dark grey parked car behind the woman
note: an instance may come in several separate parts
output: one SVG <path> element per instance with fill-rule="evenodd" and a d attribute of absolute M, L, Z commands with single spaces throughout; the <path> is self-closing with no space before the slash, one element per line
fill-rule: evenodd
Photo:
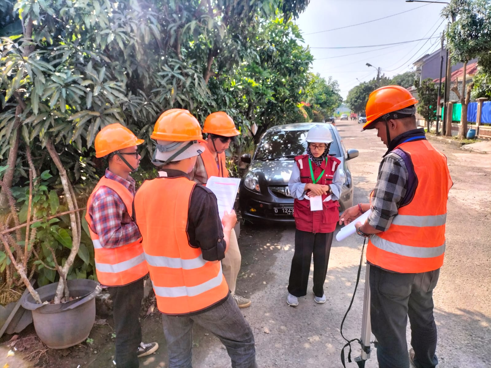
<path fill-rule="evenodd" d="M 273 160 L 273 159 L 290 159 L 295 156 L 304 155 L 307 149 L 305 131 L 272 131 L 266 133 L 259 142 L 254 159 L 256 160 Z M 336 137 L 334 136 L 334 139 Z M 340 157 L 338 145 L 331 144 L 329 155 Z"/>

